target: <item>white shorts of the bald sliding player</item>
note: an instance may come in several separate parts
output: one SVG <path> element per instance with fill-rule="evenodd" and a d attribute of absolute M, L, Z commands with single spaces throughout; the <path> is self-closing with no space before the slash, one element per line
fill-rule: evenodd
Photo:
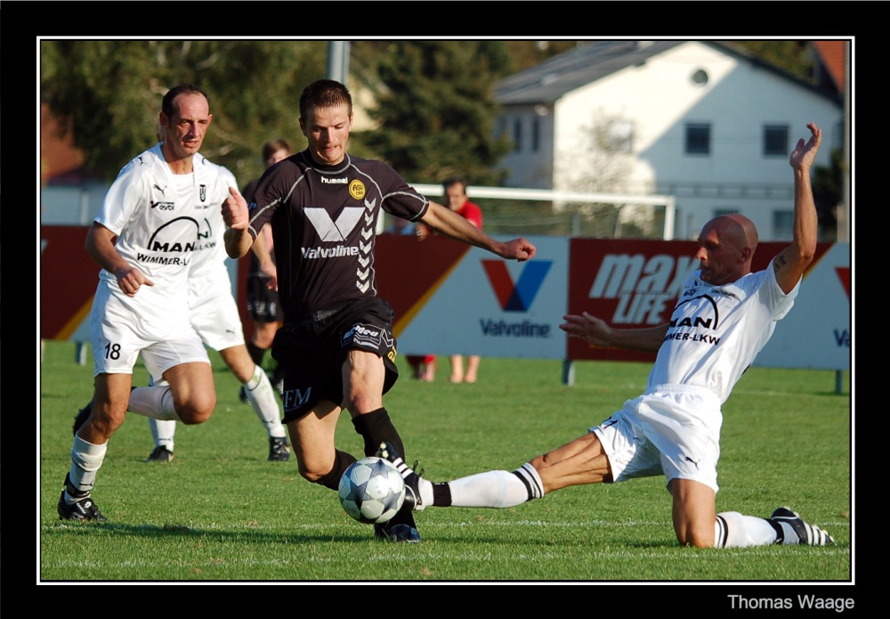
<path fill-rule="evenodd" d="M 720 400 L 708 389 L 660 385 L 627 400 L 599 426 L 614 482 L 664 475 L 692 479 L 716 493 L 720 458 Z"/>

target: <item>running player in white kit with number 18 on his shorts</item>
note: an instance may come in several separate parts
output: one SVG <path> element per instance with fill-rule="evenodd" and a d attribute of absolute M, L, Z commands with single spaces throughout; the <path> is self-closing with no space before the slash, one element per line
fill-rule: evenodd
<path fill-rule="evenodd" d="M 93 403 L 77 429 L 57 510 L 61 519 L 105 521 L 91 492 L 109 438 L 127 408 L 156 419 L 203 423 L 216 405 L 206 348 L 191 326 L 189 265 L 210 237 L 206 213 L 230 183 L 198 154 L 212 120 L 206 94 L 176 86 L 159 114 L 165 141 L 123 167 L 86 236 L 101 265 L 90 314 Z M 166 387 L 141 387 L 131 402 L 137 357 Z"/>

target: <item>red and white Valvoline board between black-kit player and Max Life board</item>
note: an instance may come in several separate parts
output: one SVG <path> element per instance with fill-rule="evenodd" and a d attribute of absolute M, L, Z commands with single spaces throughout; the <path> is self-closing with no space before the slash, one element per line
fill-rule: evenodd
<path fill-rule="evenodd" d="M 399 354 L 564 359 L 569 242 L 528 240 L 535 257 L 517 262 L 441 235 L 381 234 L 378 294 L 395 312 Z"/>

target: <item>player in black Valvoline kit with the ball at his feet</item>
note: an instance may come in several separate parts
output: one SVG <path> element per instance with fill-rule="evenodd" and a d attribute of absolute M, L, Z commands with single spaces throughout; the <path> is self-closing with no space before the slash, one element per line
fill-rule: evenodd
<path fill-rule="evenodd" d="M 335 446 L 340 412 L 348 410 L 364 440 L 364 456 L 382 443 L 404 454 L 383 395 L 398 378 L 392 306 L 376 296 L 375 228 L 381 208 L 434 231 L 514 260 L 535 246 L 501 242 L 447 207 L 427 200 L 382 161 L 346 153 L 352 95 L 320 79 L 300 95 L 300 128 L 308 148 L 270 167 L 248 205 L 238 191 L 223 204 L 226 251 L 244 256 L 271 225 L 284 326 L 272 344 L 283 368 L 284 421 L 300 475 L 334 491 L 352 454 Z M 407 505 L 375 525 L 377 538 L 419 542 Z"/>

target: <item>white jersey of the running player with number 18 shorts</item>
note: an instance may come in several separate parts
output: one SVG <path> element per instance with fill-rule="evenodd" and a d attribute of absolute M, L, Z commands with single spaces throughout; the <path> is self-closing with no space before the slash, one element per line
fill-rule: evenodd
<path fill-rule="evenodd" d="M 190 265 L 205 246 L 222 244 L 215 222 L 223 224 L 220 210 L 234 179 L 199 154 L 193 170 L 174 175 L 156 144 L 121 169 L 95 218 L 117 235 L 117 253 L 154 282 L 141 286 L 127 305 L 143 326 L 160 333 L 188 325 Z M 99 277 L 100 286 L 125 297 L 114 273 L 102 269 Z"/>

